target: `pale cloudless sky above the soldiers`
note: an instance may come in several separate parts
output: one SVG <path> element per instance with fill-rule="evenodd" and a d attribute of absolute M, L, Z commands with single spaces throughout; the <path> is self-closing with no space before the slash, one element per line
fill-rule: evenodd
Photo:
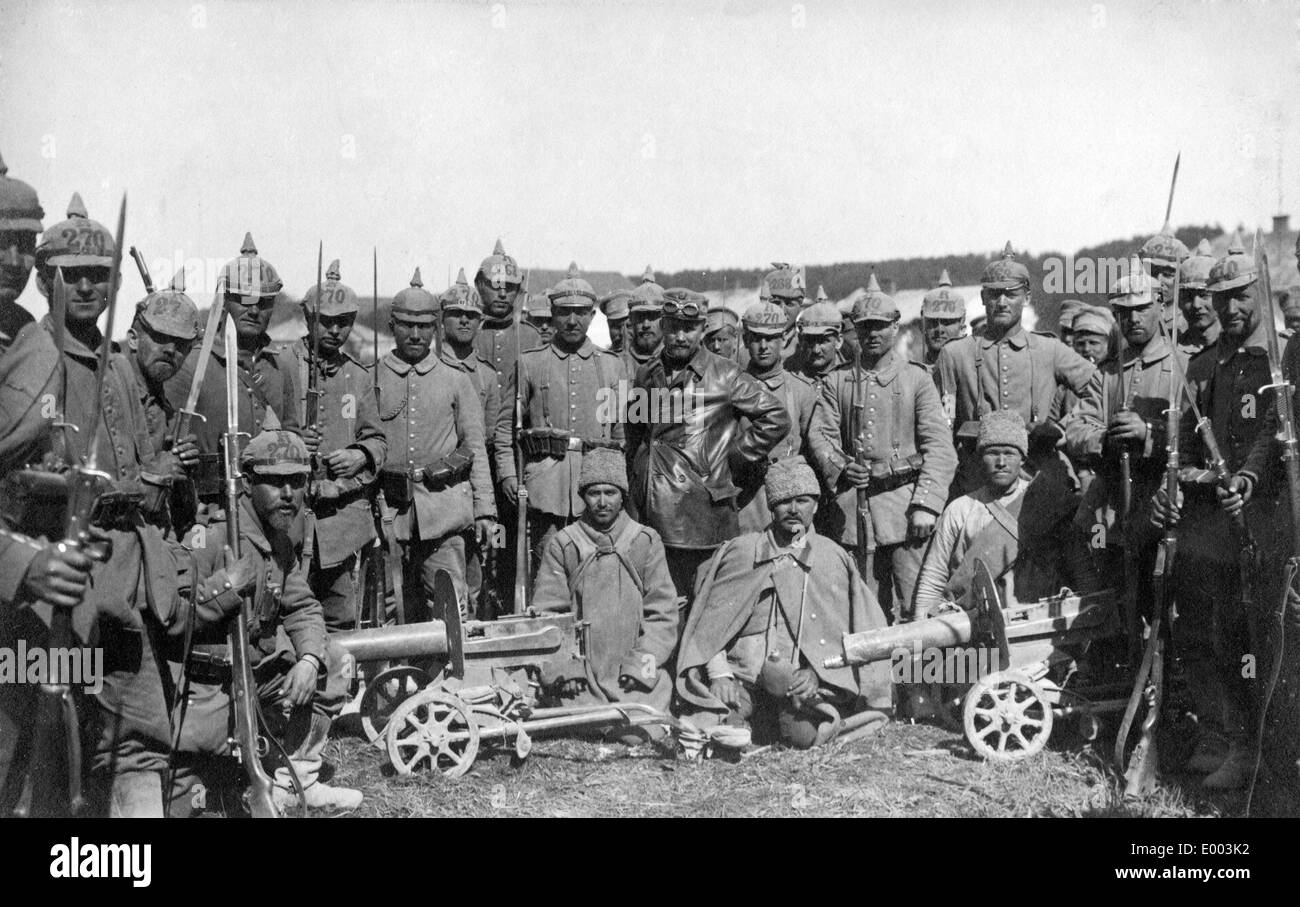
<path fill-rule="evenodd" d="M 1300 214 L 1300 3 L 0 0 L 0 153 L 207 304 L 251 231 L 640 273 L 1074 251 Z M 1300 220 L 1300 218 L 1297 218 Z M 159 273 L 165 272 L 165 273 Z M 198 285 L 198 286 L 195 286 Z M 536 287 L 534 287 L 536 290 Z M 127 272 L 124 295 L 143 294 Z M 34 282 L 21 301 L 44 304 Z"/>

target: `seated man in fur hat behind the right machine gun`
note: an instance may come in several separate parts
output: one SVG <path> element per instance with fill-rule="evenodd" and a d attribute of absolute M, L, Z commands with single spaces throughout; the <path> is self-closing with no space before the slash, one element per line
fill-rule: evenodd
<path fill-rule="evenodd" d="M 1054 473 L 1026 477 L 1028 444 L 1015 411 L 996 409 L 980 418 L 976 451 L 984 485 L 939 517 L 916 580 L 916 619 L 945 606 L 972 607 L 976 560 L 988 565 L 1004 602 L 1048 598 L 1062 586 L 1078 593 L 1100 587 L 1086 539 L 1072 524 L 1078 495 Z"/>

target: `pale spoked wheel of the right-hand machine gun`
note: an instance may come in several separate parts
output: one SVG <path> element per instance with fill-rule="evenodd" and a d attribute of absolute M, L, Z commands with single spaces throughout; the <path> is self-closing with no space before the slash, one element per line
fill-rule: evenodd
<path fill-rule="evenodd" d="M 1052 703 L 1019 672 L 1000 671 L 979 680 L 962 708 L 966 739 L 984 759 L 1027 759 L 1052 735 Z"/>

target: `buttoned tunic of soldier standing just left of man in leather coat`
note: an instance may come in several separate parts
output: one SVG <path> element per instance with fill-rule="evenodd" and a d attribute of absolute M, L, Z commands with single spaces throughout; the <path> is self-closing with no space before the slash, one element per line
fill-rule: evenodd
<path fill-rule="evenodd" d="M 582 451 L 590 443 L 623 447 L 619 385 L 623 363 L 592 340 L 573 352 L 559 346 L 529 350 L 520 368 L 524 429 L 559 429 L 569 434 L 563 457 L 530 456 L 524 466 L 528 507 L 560 520 L 572 520 L 585 505 L 578 494 Z M 508 431 L 498 428 L 497 474 L 517 478 Z"/>

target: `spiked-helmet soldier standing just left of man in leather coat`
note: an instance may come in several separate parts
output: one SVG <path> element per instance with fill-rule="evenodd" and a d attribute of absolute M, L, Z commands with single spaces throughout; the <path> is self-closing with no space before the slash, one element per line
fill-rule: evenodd
<path fill-rule="evenodd" d="M 575 262 L 568 277 L 546 295 L 555 335 L 550 344 L 526 351 L 519 364 L 524 476 L 516 474 L 510 437 L 503 433 L 497 438 L 497 473 L 506 498 L 517 503 L 520 481 L 528 489 L 534 569 L 551 535 L 582 515 L 582 457 L 595 448 L 623 450 L 618 407 L 623 363 L 586 337 L 595 291 Z"/>

